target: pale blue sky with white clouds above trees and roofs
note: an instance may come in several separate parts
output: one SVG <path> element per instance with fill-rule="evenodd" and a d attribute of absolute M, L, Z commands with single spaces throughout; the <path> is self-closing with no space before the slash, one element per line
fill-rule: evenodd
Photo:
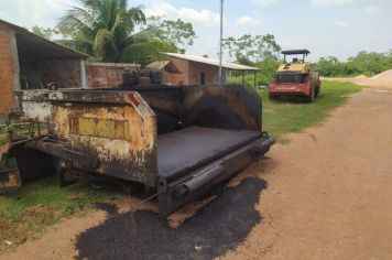
<path fill-rule="evenodd" d="M 77 0 L 0 0 L 0 19 L 31 29 L 54 26 Z M 217 57 L 219 0 L 129 0 L 146 15 L 192 22 L 186 53 Z M 311 61 L 341 61 L 360 51 L 392 50 L 391 0 L 225 0 L 224 36 L 274 34 L 284 48 L 308 48 Z M 228 55 L 225 56 L 228 59 Z"/>

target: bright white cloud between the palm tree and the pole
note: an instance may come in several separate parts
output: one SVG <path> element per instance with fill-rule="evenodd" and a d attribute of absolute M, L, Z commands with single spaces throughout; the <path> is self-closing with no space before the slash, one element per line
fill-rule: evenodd
<path fill-rule="evenodd" d="M 193 23 L 203 23 L 210 25 L 211 23 L 219 23 L 219 13 L 209 10 L 195 10 L 192 8 L 176 8 L 171 3 L 159 0 L 152 3 L 152 7 L 144 10 L 148 17 L 165 15 L 170 19 L 179 18 Z"/>

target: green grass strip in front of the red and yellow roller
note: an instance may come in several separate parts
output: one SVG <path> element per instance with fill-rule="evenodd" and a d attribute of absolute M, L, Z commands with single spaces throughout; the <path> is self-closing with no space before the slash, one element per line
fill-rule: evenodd
<path fill-rule="evenodd" d="M 268 90 L 260 90 L 264 108 L 263 129 L 279 142 L 288 143 L 284 134 L 320 124 L 335 108 L 346 104 L 351 94 L 361 89 L 351 83 L 323 82 L 322 95 L 313 104 L 300 99 L 269 100 Z"/>

